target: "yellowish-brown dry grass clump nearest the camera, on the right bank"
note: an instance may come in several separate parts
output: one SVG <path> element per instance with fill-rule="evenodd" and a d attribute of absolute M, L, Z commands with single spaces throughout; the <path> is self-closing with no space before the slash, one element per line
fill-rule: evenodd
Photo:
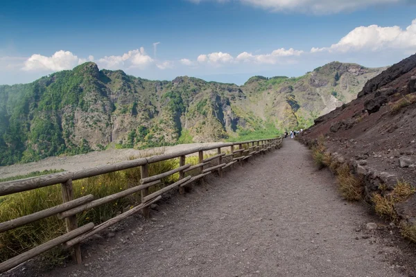
<path fill-rule="evenodd" d="M 395 204 L 403 202 L 414 193 L 416 193 L 416 188 L 404 181 L 399 181 L 391 193 L 385 195 L 376 193 L 372 196 L 374 210 L 381 217 L 396 221 L 399 216 L 395 211 Z"/>

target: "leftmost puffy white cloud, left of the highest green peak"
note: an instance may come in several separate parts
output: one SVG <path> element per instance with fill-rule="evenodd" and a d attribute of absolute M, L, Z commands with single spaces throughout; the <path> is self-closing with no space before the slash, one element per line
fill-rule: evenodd
<path fill-rule="evenodd" d="M 24 62 L 23 70 L 25 71 L 60 71 L 64 69 L 72 69 L 83 60 L 69 51 L 60 50 L 55 52 L 51 57 L 40 54 L 31 55 Z"/>

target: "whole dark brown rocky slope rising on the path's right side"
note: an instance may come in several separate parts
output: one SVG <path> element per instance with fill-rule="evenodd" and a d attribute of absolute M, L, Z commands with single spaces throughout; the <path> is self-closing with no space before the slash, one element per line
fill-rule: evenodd
<path fill-rule="evenodd" d="M 367 202 L 373 202 L 374 195 L 392 199 L 398 184 L 416 186 L 415 85 L 412 55 L 369 80 L 352 102 L 316 118 L 301 140 L 308 145 L 323 141 L 334 161 L 347 163 L 363 177 Z M 395 203 L 392 213 L 416 225 L 415 207 L 413 195 Z"/>

